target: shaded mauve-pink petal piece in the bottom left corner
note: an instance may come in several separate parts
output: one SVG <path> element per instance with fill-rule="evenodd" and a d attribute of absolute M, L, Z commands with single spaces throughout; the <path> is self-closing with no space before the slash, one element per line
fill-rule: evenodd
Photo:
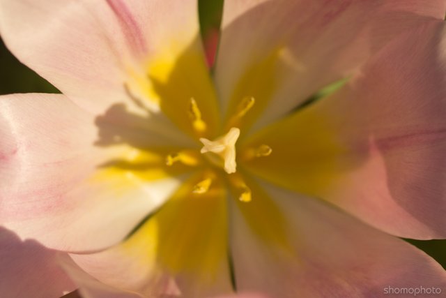
<path fill-rule="evenodd" d="M 76 286 L 59 266 L 68 255 L 0 227 L 1 297 L 59 298 Z"/>

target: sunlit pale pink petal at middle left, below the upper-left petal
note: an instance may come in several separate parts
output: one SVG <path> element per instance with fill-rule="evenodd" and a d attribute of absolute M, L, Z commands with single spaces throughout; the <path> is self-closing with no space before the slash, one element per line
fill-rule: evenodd
<path fill-rule="evenodd" d="M 7 178 L 0 180 L 0 223 L 45 246 L 91 251 L 121 241 L 167 200 L 178 179 L 107 174 L 104 163 L 129 149 L 98 145 L 102 126 L 111 129 L 62 95 L 0 97 L 0 176 Z"/>

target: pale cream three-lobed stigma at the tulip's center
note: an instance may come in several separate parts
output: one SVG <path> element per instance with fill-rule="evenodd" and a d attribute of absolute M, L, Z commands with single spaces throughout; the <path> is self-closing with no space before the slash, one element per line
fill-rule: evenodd
<path fill-rule="evenodd" d="M 201 154 L 213 153 L 219 156 L 223 161 L 223 168 L 226 173 L 231 174 L 236 172 L 236 142 L 240 136 L 240 129 L 233 127 L 226 135 L 218 137 L 214 141 L 200 138 L 203 143 Z"/>

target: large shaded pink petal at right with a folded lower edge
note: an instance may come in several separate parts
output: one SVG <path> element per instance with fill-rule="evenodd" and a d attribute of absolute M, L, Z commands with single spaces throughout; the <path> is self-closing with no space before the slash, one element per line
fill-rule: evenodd
<path fill-rule="evenodd" d="M 260 133 L 275 154 L 249 167 L 399 237 L 445 238 L 445 40 L 437 21 L 394 40 L 337 94 Z"/>

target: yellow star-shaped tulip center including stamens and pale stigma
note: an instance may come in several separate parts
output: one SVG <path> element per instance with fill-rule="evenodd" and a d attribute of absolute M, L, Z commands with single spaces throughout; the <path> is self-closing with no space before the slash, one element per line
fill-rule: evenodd
<path fill-rule="evenodd" d="M 174 46 L 169 46 L 171 48 Z M 182 52 L 179 59 L 175 54 L 156 57 L 148 61 L 147 68 L 132 72 L 125 84 L 130 99 L 138 106 L 153 105 L 152 112 L 147 109 L 149 120 L 157 120 L 159 113 L 160 120 L 164 121 L 165 117 L 168 121 L 160 121 L 159 129 L 153 121 L 155 126 L 150 130 L 155 131 L 156 136 L 153 143 L 147 145 L 139 144 L 132 135 L 124 135 L 122 140 L 128 140 L 130 147 L 135 144 L 137 154 L 128 154 L 106 166 L 108 172 L 116 172 L 119 177 L 132 174 L 131 181 L 125 175 L 131 187 L 137 184 L 149 189 L 151 186 L 146 186 L 145 182 L 155 180 L 160 180 L 160 185 L 171 180 L 180 184 L 169 194 L 163 207 L 148 216 L 126 243 L 129 249 L 134 247 L 132 249 L 138 252 L 141 241 L 148 244 L 151 253 L 144 250 L 145 266 L 160 267 L 171 274 L 192 272 L 206 283 L 212 282 L 227 262 L 228 221 L 233 206 L 238 207 L 249 228 L 260 239 L 289 247 L 281 209 L 254 176 L 263 178 L 256 174 L 262 170 L 267 178 L 272 172 L 275 176 L 279 172 L 280 181 L 291 181 L 289 184 L 304 181 L 302 185 L 306 185 L 307 180 L 290 177 L 296 176 L 295 169 L 307 172 L 307 167 L 295 165 L 300 166 L 302 162 L 306 165 L 305 161 L 310 159 L 307 156 L 311 154 L 295 158 L 295 151 L 299 153 L 307 146 L 293 146 L 289 137 L 282 137 L 290 131 L 288 127 L 269 135 L 264 130 L 252 133 L 254 121 L 267 108 L 275 90 L 275 55 L 242 74 L 232 94 L 222 90 L 217 94 L 200 51 L 201 44 L 197 43 L 197 47 L 188 47 Z M 112 116 L 116 115 L 110 113 Z M 134 119 L 139 120 L 138 116 Z M 164 139 L 164 133 L 170 131 L 164 130 L 164 125 L 171 124 L 178 131 Z M 307 128 L 305 125 L 299 127 Z M 248 132 L 250 128 L 252 131 Z M 104 131 L 100 135 L 107 137 L 107 133 Z M 310 136 L 308 143 L 318 144 L 320 139 Z M 174 142 L 165 142 L 170 140 Z M 235 200 L 229 202 L 228 198 Z"/>

